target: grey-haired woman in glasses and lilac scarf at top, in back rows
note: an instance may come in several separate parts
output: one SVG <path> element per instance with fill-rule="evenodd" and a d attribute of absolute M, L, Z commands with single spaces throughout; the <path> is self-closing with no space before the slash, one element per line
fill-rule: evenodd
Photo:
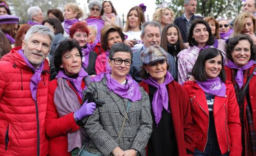
<path fill-rule="evenodd" d="M 96 38 L 101 40 L 101 30 L 104 26 L 104 21 L 101 16 L 102 4 L 99 0 L 90 0 L 88 7 L 90 15 L 85 20 L 88 25 L 94 26 L 97 29 Z"/>

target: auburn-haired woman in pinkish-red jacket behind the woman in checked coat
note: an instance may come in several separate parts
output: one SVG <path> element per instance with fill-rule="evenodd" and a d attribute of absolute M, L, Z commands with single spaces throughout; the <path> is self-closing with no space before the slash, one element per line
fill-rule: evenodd
<path fill-rule="evenodd" d="M 104 50 L 97 56 L 95 62 L 95 72 L 99 74 L 101 72 L 110 72 L 111 68 L 108 64 L 107 58 L 110 48 L 115 43 L 124 42 L 125 35 L 122 32 L 122 28 L 115 25 L 106 25 L 101 30 L 101 48 Z"/>

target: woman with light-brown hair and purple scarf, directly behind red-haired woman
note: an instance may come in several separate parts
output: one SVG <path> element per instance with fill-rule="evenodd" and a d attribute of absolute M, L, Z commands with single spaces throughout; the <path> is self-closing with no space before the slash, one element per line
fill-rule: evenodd
<path fill-rule="evenodd" d="M 64 22 L 62 25 L 65 31 L 63 36 L 68 38 L 69 29 L 79 21 L 80 17 L 83 17 L 83 10 L 76 3 L 67 3 L 64 8 Z"/>

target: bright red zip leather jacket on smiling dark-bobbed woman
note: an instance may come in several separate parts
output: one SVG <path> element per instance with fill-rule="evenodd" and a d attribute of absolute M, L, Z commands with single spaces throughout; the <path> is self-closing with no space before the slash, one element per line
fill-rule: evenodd
<path fill-rule="evenodd" d="M 226 82 L 226 96 L 215 96 L 213 113 L 216 134 L 221 154 L 230 151 L 229 156 L 241 156 L 241 123 L 239 107 L 236 101 L 233 84 Z M 184 84 L 191 103 L 195 147 L 203 152 L 207 143 L 209 128 L 209 111 L 205 92 L 195 82 L 187 81 Z"/>

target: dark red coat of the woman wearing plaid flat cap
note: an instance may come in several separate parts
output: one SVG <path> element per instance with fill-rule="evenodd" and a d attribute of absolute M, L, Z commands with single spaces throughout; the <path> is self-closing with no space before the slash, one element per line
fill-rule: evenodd
<path fill-rule="evenodd" d="M 142 81 L 140 85 L 149 94 L 149 84 Z M 179 156 L 187 156 L 186 149 L 192 152 L 194 151 L 192 115 L 189 98 L 182 86 L 177 82 L 172 81 L 167 84 L 167 87 Z"/>

